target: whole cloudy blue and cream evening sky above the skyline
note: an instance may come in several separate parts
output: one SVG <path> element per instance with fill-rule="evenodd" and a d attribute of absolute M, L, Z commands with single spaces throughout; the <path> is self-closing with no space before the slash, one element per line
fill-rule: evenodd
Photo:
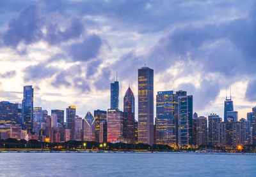
<path fill-rule="evenodd" d="M 256 105 L 255 1 L 0 0 L 0 6 L 1 101 L 21 103 L 23 86 L 33 85 L 34 106 L 74 105 L 84 117 L 109 108 L 118 71 L 123 110 L 129 83 L 137 100 L 138 68 L 146 64 L 154 69 L 155 96 L 187 90 L 198 115 L 223 117 L 230 87 L 239 118 Z"/>

